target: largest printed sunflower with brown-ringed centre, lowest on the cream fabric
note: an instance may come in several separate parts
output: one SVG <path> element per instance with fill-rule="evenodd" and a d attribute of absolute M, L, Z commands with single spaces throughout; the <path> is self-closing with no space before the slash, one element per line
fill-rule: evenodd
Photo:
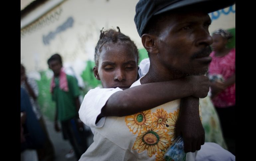
<path fill-rule="evenodd" d="M 132 149 L 138 149 L 138 153 L 148 150 L 148 156 L 152 157 L 156 152 L 168 147 L 170 141 L 168 135 L 163 129 L 157 129 L 153 126 L 141 130 L 139 136 L 133 144 Z"/>

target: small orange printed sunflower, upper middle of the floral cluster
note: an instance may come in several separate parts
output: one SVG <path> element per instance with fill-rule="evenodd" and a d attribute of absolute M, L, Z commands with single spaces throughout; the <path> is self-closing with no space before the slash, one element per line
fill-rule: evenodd
<path fill-rule="evenodd" d="M 153 116 L 153 126 L 156 128 L 165 128 L 165 121 L 167 121 L 168 114 L 164 109 L 157 109 Z"/>

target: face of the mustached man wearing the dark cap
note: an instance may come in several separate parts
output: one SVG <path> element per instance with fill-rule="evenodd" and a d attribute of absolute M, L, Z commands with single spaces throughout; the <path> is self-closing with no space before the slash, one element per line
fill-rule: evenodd
<path fill-rule="evenodd" d="M 204 74 L 211 61 L 212 38 L 206 13 L 170 14 L 160 22 L 158 59 L 162 67 L 179 74 Z"/>

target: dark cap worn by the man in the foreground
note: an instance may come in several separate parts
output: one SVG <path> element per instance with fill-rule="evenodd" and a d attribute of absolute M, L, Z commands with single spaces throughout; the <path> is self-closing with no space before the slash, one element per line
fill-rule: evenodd
<path fill-rule="evenodd" d="M 136 5 L 134 22 L 141 37 L 147 23 L 155 15 L 184 7 L 211 13 L 234 3 L 235 0 L 140 0 Z"/>

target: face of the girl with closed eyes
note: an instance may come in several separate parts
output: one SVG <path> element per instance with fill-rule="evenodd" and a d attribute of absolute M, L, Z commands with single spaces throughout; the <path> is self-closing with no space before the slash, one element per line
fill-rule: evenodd
<path fill-rule="evenodd" d="M 137 56 L 126 44 L 105 44 L 101 48 L 94 76 L 103 88 L 129 88 L 138 76 Z"/>

